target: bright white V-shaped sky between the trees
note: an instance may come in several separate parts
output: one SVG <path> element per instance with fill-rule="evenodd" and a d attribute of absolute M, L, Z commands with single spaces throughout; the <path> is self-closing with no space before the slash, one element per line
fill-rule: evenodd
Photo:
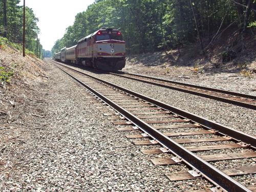
<path fill-rule="evenodd" d="M 85 11 L 94 0 L 26 0 L 26 6 L 32 8 L 39 18 L 40 43 L 45 50 L 51 50 L 54 42 L 61 38 L 67 27 L 72 25 L 75 15 Z M 20 0 L 23 5 L 23 0 Z M 85 34 L 87 35 L 87 34 Z"/>

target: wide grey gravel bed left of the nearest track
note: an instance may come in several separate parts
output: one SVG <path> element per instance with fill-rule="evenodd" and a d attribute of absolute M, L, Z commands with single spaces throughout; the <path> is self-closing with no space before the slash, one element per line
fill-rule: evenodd
<path fill-rule="evenodd" d="M 5 146 L 1 191 L 183 191 L 211 186 L 203 179 L 170 182 L 165 173 L 187 167 L 154 166 L 140 146 L 96 109 L 83 88 L 57 68 L 46 69 L 50 78 L 29 93 L 36 99 L 27 105 L 26 116 L 13 122 L 11 130 L 0 130 L 0 148 Z"/>

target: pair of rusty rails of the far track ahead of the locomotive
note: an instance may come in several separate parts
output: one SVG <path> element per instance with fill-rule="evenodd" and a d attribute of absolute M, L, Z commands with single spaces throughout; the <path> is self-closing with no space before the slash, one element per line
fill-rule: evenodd
<path fill-rule="evenodd" d="M 159 82 L 147 81 L 147 80 L 138 79 L 138 78 L 135 78 L 135 77 L 125 76 L 125 75 L 118 74 L 118 73 L 110 72 L 110 74 L 116 75 L 116 76 L 119 76 L 119 77 L 124 77 L 124 78 L 128 78 L 128 79 L 136 80 L 136 81 L 140 81 L 140 82 L 154 84 L 155 86 L 159 86 L 159 87 L 163 87 L 163 88 L 173 89 L 173 90 L 177 90 L 177 91 L 181 91 L 181 92 L 185 92 L 185 93 L 189 93 L 189 94 L 193 94 L 193 95 L 197 95 L 197 96 L 201 96 L 201 97 L 206 97 L 206 98 L 209 98 L 209 99 L 219 100 L 219 101 L 226 102 L 226 103 L 229 103 L 229 104 L 235 104 L 235 105 L 242 106 L 243 108 L 248 108 L 248 109 L 251 109 L 251 110 L 256 110 L 256 105 L 255 104 L 250 104 L 250 103 L 245 103 L 245 102 L 241 102 L 241 101 L 237 101 L 237 100 L 232 100 L 232 99 L 227 99 L 227 98 L 223 98 L 223 97 L 218 97 L 218 96 L 210 95 L 210 94 L 207 94 L 207 93 L 191 91 L 191 90 L 187 90 L 185 88 L 177 88 L 177 87 L 174 87 L 174 86 L 170 86 L 170 85 L 166 85 L 166 84 L 161 84 Z M 239 96 L 239 97 L 245 97 L 245 98 L 255 99 L 256 100 L 256 96 L 253 96 L 253 95 L 247 95 L 247 94 L 231 92 L 231 91 L 226 91 L 226 90 L 202 87 L 202 86 L 197 86 L 195 84 L 182 83 L 182 82 L 178 82 L 178 81 L 171 81 L 171 80 L 167 80 L 167 79 L 148 77 L 148 76 L 137 75 L 137 74 L 132 74 L 132 73 L 125 73 L 124 72 L 124 74 L 138 76 L 138 77 L 143 77 L 143 78 L 148 78 L 148 79 L 154 79 L 154 80 L 168 82 L 168 83 L 180 84 L 182 86 L 187 86 L 187 87 L 192 87 L 192 88 L 212 91 L 212 92 L 216 92 L 216 93 L 228 94 L 228 95 L 230 95 L 230 97 L 231 96 Z"/>

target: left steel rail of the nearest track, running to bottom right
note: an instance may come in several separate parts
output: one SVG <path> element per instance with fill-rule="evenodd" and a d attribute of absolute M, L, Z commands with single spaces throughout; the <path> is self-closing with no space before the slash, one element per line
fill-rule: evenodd
<path fill-rule="evenodd" d="M 56 66 L 56 67 L 58 67 L 58 66 Z M 64 66 L 64 67 L 66 67 L 66 66 Z M 69 68 L 69 67 L 66 67 L 66 68 Z M 192 152 L 186 150 L 186 148 L 184 148 L 180 144 L 176 143 L 169 137 L 167 137 L 164 134 L 162 134 L 161 132 L 157 131 L 156 129 L 154 129 L 154 127 L 145 123 L 141 119 L 134 116 L 132 113 L 126 111 L 121 106 L 117 105 L 116 103 L 114 103 L 110 99 L 106 98 L 105 96 L 103 96 L 102 94 L 97 92 L 96 90 L 92 89 L 90 86 L 83 83 L 81 80 L 77 79 L 76 77 L 69 74 L 65 70 L 63 70 L 61 68 L 59 68 L 59 69 L 62 70 L 63 72 L 65 72 L 66 74 L 68 74 L 73 79 L 75 79 L 83 87 L 87 88 L 91 93 L 93 93 L 95 96 L 100 98 L 103 102 L 110 105 L 114 110 L 118 111 L 120 114 L 125 116 L 128 120 L 133 122 L 136 126 L 140 127 L 140 129 L 142 131 L 144 131 L 145 133 L 150 135 L 152 138 L 156 139 L 163 146 L 167 147 L 173 154 L 181 157 L 187 165 L 189 165 L 190 167 L 194 168 L 195 170 L 198 170 L 199 172 L 201 172 L 201 174 L 209 181 L 219 185 L 220 187 L 222 187 L 223 189 L 225 189 L 227 191 L 251 191 L 248 188 L 246 188 L 245 186 L 241 185 L 237 181 L 235 181 L 232 178 L 230 178 L 229 176 L 227 176 L 226 174 L 224 174 L 223 172 L 221 172 L 216 167 L 214 167 L 211 164 L 207 163 L 206 161 L 202 160 L 201 158 L 199 158 Z M 76 71 L 72 68 L 69 68 L 69 69 Z M 76 72 L 79 72 L 79 71 L 76 71 Z M 79 72 L 79 73 L 81 73 L 81 72 Z M 81 74 L 83 74 L 83 73 L 81 73 Z M 84 74 L 84 75 L 87 75 L 87 74 Z M 90 77 L 90 75 L 87 75 L 87 76 Z M 97 78 L 93 78 L 93 79 L 97 80 Z M 106 83 L 106 84 L 108 84 L 108 83 Z"/>

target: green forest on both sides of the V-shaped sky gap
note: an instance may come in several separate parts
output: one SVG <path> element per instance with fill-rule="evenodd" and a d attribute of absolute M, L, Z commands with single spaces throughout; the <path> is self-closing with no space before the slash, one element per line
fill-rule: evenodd
<path fill-rule="evenodd" d="M 18 44 L 23 35 L 19 2 L 0 1 L 0 35 Z M 26 48 L 38 57 L 50 56 L 36 38 L 38 18 L 28 7 L 26 17 Z M 51 52 L 76 45 L 80 38 L 104 27 L 122 32 L 128 54 L 180 50 L 195 43 L 205 53 L 227 31 L 233 37 L 228 49 L 244 52 L 245 36 L 253 37 L 256 32 L 256 0 L 96 0 L 76 15 Z"/>

